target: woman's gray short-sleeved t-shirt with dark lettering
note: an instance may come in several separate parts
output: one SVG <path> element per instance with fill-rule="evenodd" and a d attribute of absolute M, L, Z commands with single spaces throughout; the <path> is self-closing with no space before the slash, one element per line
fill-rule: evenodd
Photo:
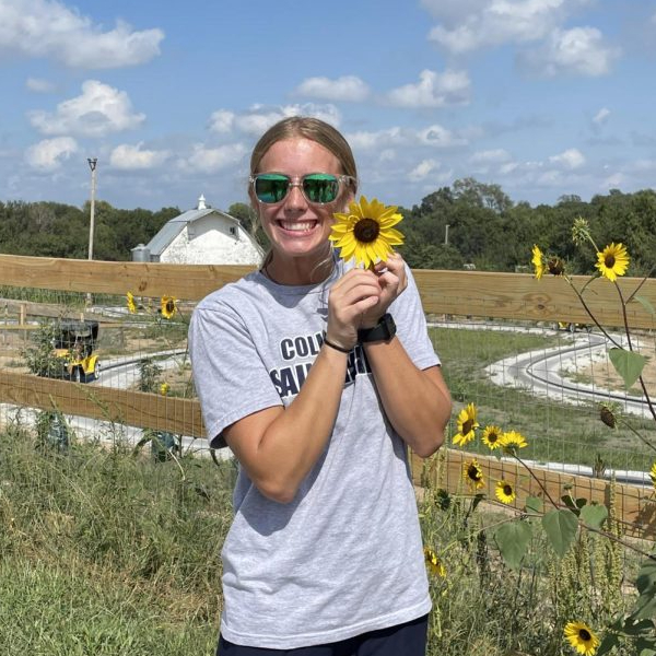
<path fill-rule="evenodd" d="M 323 342 L 328 291 L 254 272 L 198 304 L 189 329 L 194 379 L 213 446 L 235 421 L 289 406 Z M 438 364 L 409 270 L 393 303 L 397 336 L 419 368 Z M 391 427 L 360 347 L 349 355 L 330 441 L 289 504 L 242 469 L 223 546 L 221 633 L 235 644 L 291 649 L 331 643 L 431 609 L 405 443 Z"/>

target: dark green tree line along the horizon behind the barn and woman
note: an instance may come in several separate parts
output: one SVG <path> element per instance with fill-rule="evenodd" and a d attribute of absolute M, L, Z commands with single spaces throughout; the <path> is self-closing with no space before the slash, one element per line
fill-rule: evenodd
<path fill-rule="evenodd" d="M 239 219 L 266 247 L 266 236 L 245 203 L 227 212 Z M 624 244 L 631 256 L 631 276 L 651 274 L 656 265 L 656 191 L 623 194 L 618 189 L 589 202 L 562 196 L 554 206 L 513 202 L 499 185 L 473 178 L 456 180 L 427 195 L 412 208 L 399 208 L 406 235 L 399 250 L 412 268 L 481 271 L 529 270 L 530 250 L 561 257 L 572 273 L 590 273 L 596 261 L 591 247 L 576 246 L 572 225 L 586 219 L 599 248 Z M 94 258 L 129 260 L 131 249 L 147 244 L 178 208 L 153 212 L 120 210 L 104 201 L 95 204 Z M 90 208 L 57 202 L 0 202 L 0 253 L 85 259 Z"/>

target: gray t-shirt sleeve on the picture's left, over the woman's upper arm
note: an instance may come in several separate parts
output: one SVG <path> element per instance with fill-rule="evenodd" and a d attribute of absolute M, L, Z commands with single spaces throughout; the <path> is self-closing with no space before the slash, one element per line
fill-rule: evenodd
<path fill-rule="evenodd" d="M 282 405 L 247 326 L 230 305 L 196 308 L 189 356 L 210 446 L 225 446 L 223 430 L 239 419 Z"/>

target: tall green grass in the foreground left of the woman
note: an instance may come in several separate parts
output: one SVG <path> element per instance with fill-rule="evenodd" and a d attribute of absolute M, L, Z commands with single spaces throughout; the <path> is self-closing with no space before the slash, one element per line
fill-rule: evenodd
<path fill-rule="evenodd" d="M 0 437 L 0 653 L 213 654 L 232 462 Z"/>

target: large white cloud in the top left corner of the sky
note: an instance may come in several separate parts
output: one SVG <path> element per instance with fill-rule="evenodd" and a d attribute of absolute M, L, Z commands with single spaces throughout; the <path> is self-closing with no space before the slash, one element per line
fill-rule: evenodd
<path fill-rule="evenodd" d="M 55 59 L 72 68 L 134 66 L 160 54 L 161 30 L 117 22 L 103 31 L 56 0 L 0 0 L 0 50 Z"/>

